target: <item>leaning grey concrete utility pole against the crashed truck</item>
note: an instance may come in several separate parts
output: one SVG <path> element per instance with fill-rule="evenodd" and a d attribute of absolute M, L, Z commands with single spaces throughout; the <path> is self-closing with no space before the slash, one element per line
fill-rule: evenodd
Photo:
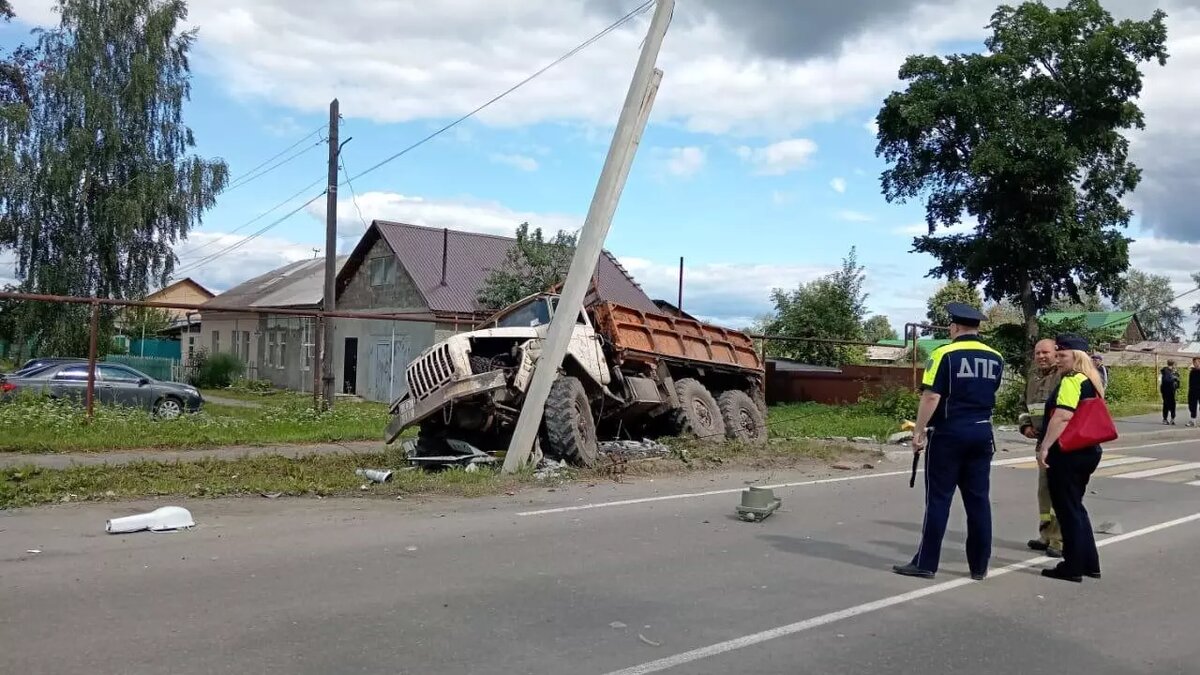
<path fill-rule="evenodd" d="M 541 426 L 550 388 L 563 365 L 563 357 L 566 356 L 566 346 L 575 329 L 575 319 L 583 309 L 588 282 L 592 280 L 596 262 L 604 251 L 604 241 L 617 209 L 623 177 L 628 171 L 625 166 L 634 161 L 634 150 L 641 136 L 638 123 L 644 124 L 649 117 L 649 112 L 643 108 L 646 108 L 648 98 L 652 97 L 652 84 L 655 80 L 654 64 L 658 61 L 662 38 L 667 32 L 673 11 L 674 0 L 658 0 L 649 32 L 646 36 L 646 42 L 642 43 L 637 66 L 634 68 L 634 78 L 625 94 L 625 104 L 617 120 L 617 130 L 608 145 L 608 156 L 600 172 L 600 180 L 592 196 L 592 205 L 588 208 L 588 215 L 583 221 L 583 229 L 580 232 L 580 240 L 575 247 L 575 256 L 571 258 L 571 267 L 566 273 L 566 281 L 563 283 L 558 309 L 550 322 L 546 340 L 541 346 L 541 356 L 534 366 L 533 380 L 526 393 L 524 405 L 521 406 L 521 416 L 517 418 L 509 452 L 504 458 L 505 473 L 518 471 L 529 461 L 529 453 L 533 450 L 538 429 Z"/>

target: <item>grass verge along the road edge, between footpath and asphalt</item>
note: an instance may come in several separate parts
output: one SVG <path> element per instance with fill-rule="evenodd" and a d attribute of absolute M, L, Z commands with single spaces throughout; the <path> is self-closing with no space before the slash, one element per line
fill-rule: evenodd
<path fill-rule="evenodd" d="M 673 454 L 649 460 L 606 458 L 593 470 L 566 471 L 539 480 L 527 471 L 512 476 L 493 468 L 461 468 L 426 473 L 397 471 L 390 483 L 361 489 L 355 468 L 398 468 L 407 465 L 402 450 L 380 453 L 260 455 L 235 460 L 205 459 L 188 462 L 139 461 L 127 465 L 74 466 L 64 470 L 13 467 L 0 473 L 0 508 L 54 502 L 120 501 L 145 497 L 235 496 L 458 496 L 476 497 L 514 491 L 522 485 L 553 485 L 568 480 L 620 479 L 624 476 L 686 473 L 713 468 L 785 468 L 816 466 L 860 450 L 815 441 L 772 442 L 763 447 L 676 443 Z"/>

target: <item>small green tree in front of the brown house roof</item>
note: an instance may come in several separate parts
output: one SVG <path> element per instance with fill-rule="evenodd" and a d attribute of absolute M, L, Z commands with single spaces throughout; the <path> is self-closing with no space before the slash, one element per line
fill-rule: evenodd
<path fill-rule="evenodd" d="M 516 244 L 509 249 L 504 263 L 488 273 L 479 291 L 484 309 L 498 310 L 512 303 L 550 289 L 566 280 L 575 256 L 576 235 L 559 232 L 546 240 L 541 228 L 529 229 L 528 222 L 517 227 Z"/>

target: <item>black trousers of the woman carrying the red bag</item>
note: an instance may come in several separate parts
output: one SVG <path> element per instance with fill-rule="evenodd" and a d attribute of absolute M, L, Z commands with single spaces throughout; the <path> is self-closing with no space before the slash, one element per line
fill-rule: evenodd
<path fill-rule="evenodd" d="M 1100 464 L 1100 449 L 1063 453 L 1057 448 L 1046 458 L 1046 482 L 1058 527 L 1062 528 L 1062 568 L 1074 575 L 1100 571 L 1100 554 L 1096 549 L 1092 519 L 1084 507 L 1087 482 Z"/>

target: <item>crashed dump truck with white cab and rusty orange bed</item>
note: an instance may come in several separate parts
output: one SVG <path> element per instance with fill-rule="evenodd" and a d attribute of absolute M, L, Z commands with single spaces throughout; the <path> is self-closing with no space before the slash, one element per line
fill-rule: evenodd
<path fill-rule="evenodd" d="M 422 352 L 391 402 L 388 442 L 418 426 L 415 453 L 444 454 L 448 438 L 506 448 L 557 307 L 557 294 L 539 293 Z M 766 442 L 763 376 L 745 333 L 588 303 L 546 400 L 539 443 L 546 456 L 592 466 L 600 438 Z"/>

